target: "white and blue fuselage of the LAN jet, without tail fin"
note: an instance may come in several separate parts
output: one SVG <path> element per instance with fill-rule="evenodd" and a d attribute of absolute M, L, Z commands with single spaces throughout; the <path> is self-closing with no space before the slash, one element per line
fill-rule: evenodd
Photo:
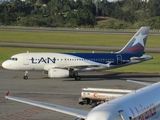
<path fill-rule="evenodd" d="M 11 63 L 8 67 L 13 70 L 48 70 L 70 66 L 70 68 L 81 67 L 79 71 L 102 70 L 141 60 L 131 60 L 130 58 L 134 56 L 134 54 L 109 53 L 21 53 L 11 57 L 12 62 L 9 60 Z M 147 56 L 137 57 L 143 60 Z M 86 68 L 87 66 L 91 67 Z"/>

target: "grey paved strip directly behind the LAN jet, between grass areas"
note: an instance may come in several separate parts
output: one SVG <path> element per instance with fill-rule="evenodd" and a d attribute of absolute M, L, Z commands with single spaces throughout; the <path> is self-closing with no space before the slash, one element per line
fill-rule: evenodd
<path fill-rule="evenodd" d="M 87 45 L 63 45 L 63 44 L 38 44 L 38 43 L 16 43 L 0 42 L 2 47 L 29 47 L 29 48 L 47 48 L 47 49 L 74 49 L 91 51 L 119 51 L 123 46 L 87 46 Z M 146 47 L 145 52 L 160 53 L 160 48 Z"/>

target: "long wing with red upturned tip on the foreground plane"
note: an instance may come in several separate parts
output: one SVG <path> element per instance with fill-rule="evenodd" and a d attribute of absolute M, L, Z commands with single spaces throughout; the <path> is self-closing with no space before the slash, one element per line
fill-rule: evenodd
<path fill-rule="evenodd" d="M 38 107 L 45 108 L 45 109 L 48 109 L 48 110 L 53 110 L 53 111 L 56 111 L 56 112 L 68 114 L 68 115 L 75 116 L 75 117 L 78 117 L 78 118 L 85 119 L 88 115 L 88 112 L 84 111 L 84 110 L 64 107 L 64 106 L 60 106 L 60 105 L 55 105 L 55 104 L 50 104 L 50 103 L 45 103 L 45 102 L 40 102 L 40 101 L 35 101 L 35 100 L 28 100 L 28 99 L 25 99 L 25 98 L 9 96 L 9 92 L 6 94 L 5 98 L 9 99 L 9 100 L 25 103 L 25 104 L 38 106 Z"/>

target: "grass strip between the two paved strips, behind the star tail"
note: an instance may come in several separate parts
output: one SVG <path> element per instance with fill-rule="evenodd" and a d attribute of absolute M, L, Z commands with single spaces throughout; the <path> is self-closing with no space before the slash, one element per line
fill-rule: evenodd
<path fill-rule="evenodd" d="M 0 30 L 1 42 L 28 42 L 72 45 L 124 46 L 131 34 L 91 34 L 60 32 L 25 32 Z M 160 47 L 160 36 L 149 35 L 148 47 Z"/>

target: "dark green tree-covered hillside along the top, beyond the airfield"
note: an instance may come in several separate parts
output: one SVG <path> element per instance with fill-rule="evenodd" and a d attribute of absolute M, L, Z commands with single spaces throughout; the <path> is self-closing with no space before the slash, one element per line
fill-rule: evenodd
<path fill-rule="evenodd" d="M 98 26 L 98 16 L 113 18 Z M 115 25 L 117 21 L 123 21 Z M 160 0 L 13 0 L 0 4 L 0 25 L 41 27 L 160 27 Z"/>

